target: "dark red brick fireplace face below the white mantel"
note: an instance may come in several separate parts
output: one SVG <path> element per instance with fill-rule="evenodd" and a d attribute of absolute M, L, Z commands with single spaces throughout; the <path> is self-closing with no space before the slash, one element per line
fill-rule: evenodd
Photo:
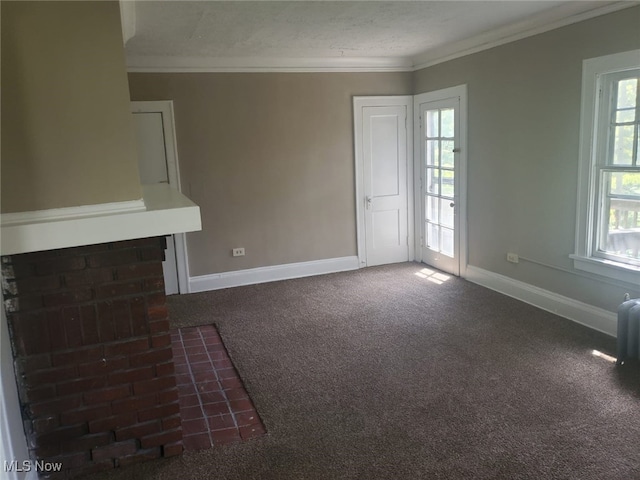
<path fill-rule="evenodd" d="M 31 460 L 70 478 L 178 455 L 164 237 L 2 257 Z"/>

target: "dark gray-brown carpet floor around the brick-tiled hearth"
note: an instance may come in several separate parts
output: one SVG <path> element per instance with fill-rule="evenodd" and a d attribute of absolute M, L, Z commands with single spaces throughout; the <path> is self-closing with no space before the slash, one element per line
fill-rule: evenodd
<path fill-rule="evenodd" d="M 405 263 L 169 299 L 214 323 L 264 437 L 95 479 L 640 479 L 615 340 Z"/>

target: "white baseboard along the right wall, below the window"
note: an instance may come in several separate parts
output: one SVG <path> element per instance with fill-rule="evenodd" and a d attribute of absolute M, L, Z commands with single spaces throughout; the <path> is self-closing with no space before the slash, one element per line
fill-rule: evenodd
<path fill-rule="evenodd" d="M 612 337 L 617 336 L 616 313 L 471 265 L 467 266 L 465 278 Z"/>

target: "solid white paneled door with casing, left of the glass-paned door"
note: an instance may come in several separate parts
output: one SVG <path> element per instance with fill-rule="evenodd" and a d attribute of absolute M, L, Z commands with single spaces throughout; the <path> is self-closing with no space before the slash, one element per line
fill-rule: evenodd
<path fill-rule="evenodd" d="M 354 97 L 360 266 L 413 258 L 412 97 Z"/>

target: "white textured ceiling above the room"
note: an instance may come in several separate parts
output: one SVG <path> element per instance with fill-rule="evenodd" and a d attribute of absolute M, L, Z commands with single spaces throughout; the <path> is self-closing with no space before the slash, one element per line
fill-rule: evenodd
<path fill-rule="evenodd" d="M 610 3 L 139 1 L 126 49 L 136 58 L 413 59 L 532 18 Z"/>

